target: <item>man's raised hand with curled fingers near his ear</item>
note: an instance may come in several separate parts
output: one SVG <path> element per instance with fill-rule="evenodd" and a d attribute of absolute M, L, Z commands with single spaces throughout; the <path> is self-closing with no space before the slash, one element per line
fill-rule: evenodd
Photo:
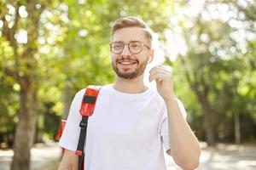
<path fill-rule="evenodd" d="M 155 80 L 158 93 L 165 100 L 176 99 L 173 89 L 172 68 L 157 65 L 149 71 L 149 82 Z"/>

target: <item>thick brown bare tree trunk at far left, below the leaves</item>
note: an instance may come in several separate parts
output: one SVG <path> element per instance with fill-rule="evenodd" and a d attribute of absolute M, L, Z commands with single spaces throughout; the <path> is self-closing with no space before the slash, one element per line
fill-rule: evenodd
<path fill-rule="evenodd" d="M 30 82 L 27 82 L 30 83 Z M 37 90 L 30 84 L 21 86 L 19 122 L 15 131 L 15 145 L 11 170 L 30 169 L 32 148 L 38 111 Z"/>

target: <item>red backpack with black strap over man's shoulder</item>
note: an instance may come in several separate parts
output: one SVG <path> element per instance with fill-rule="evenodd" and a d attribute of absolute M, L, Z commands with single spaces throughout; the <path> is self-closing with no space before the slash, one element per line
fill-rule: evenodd
<path fill-rule="evenodd" d="M 84 170 L 84 142 L 86 137 L 86 129 L 87 129 L 87 122 L 89 116 L 92 116 L 95 105 L 96 99 L 100 92 L 100 86 L 88 86 L 85 88 L 84 98 L 81 102 L 80 106 L 80 114 L 82 119 L 79 123 L 80 127 L 80 134 L 79 134 L 79 143 L 77 145 L 77 150 L 75 151 L 75 155 L 79 156 L 79 170 Z M 61 135 L 64 131 L 66 120 L 61 120 L 61 126 L 58 130 L 58 133 L 55 136 L 55 139 L 61 139 Z M 64 154 L 64 149 L 62 148 L 62 155 Z"/>

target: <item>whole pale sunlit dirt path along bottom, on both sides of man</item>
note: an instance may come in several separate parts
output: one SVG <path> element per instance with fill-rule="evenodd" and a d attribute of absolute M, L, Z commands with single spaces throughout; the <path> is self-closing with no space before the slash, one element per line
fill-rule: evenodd
<path fill-rule="evenodd" d="M 57 144 L 36 144 L 32 149 L 32 170 L 56 170 L 61 150 Z M 9 170 L 12 150 L 0 150 L 0 170 Z M 167 170 L 181 170 L 166 156 Z M 197 170 L 255 170 L 256 145 L 218 144 L 203 148 Z"/>

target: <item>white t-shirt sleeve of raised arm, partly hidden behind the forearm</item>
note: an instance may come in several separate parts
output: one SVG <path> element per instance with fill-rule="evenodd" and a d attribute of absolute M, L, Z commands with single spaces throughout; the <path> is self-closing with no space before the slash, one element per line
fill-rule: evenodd
<path fill-rule="evenodd" d="M 177 99 L 177 105 L 179 106 L 184 119 L 186 119 L 187 113 L 185 111 L 183 103 L 179 99 Z M 167 151 L 171 149 L 171 146 L 169 142 L 168 117 L 167 117 L 166 105 L 163 105 L 161 110 L 163 112 L 163 116 L 160 122 L 160 137 L 161 137 L 162 144 L 164 145 L 164 148 Z"/>

